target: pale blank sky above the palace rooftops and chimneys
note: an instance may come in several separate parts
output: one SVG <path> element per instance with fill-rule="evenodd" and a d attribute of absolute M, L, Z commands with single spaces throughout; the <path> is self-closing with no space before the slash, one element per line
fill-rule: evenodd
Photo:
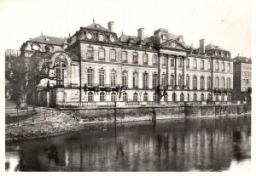
<path fill-rule="evenodd" d="M 145 28 L 152 36 L 159 28 L 183 35 L 185 43 L 199 46 L 201 38 L 230 50 L 232 57 L 251 56 L 251 12 L 255 0 L 1 0 L 0 12 L 5 48 L 19 49 L 29 38 L 44 35 L 67 37 L 96 23 L 108 27 L 114 21 L 118 36 L 137 36 Z"/>

